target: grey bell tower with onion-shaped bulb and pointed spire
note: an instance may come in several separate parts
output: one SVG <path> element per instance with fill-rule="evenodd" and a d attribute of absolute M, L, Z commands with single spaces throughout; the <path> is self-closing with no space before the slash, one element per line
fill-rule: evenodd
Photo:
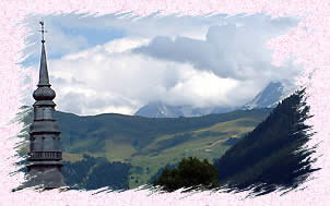
<path fill-rule="evenodd" d="M 55 106 L 52 101 L 56 94 L 50 88 L 45 39 L 44 22 L 42 25 L 42 58 L 39 70 L 39 82 L 37 89 L 33 93 L 36 100 L 34 107 L 34 120 L 30 128 L 30 153 L 27 158 L 27 170 L 30 181 L 26 186 L 40 186 L 44 189 L 56 189 L 64 186 L 61 173 L 62 152 L 60 147 L 60 128 L 55 120 Z"/>

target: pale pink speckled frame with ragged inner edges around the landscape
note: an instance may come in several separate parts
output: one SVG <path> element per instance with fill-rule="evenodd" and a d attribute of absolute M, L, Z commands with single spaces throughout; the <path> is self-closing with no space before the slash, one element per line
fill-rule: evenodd
<path fill-rule="evenodd" d="M 243 199 L 248 192 L 238 194 L 200 192 L 193 194 L 151 194 L 150 191 L 126 191 L 122 193 L 95 191 L 69 191 L 59 193 L 49 191 L 37 193 L 31 190 L 12 193 L 11 190 L 23 181 L 23 174 L 10 175 L 17 170 L 13 163 L 20 159 L 13 157 L 15 145 L 20 141 L 15 136 L 22 124 L 9 123 L 15 117 L 21 94 L 25 85 L 21 85 L 25 75 L 19 64 L 24 49 L 26 27 L 17 24 L 30 13 L 43 15 L 56 13 L 90 13 L 103 15 L 115 12 L 132 11 L 138 15 L 148 15 L 156 11 L 163 14 L 181 13 L 186 15 L 202 15 L 213 12 L 255 14 L 266 13 L 272 17 L 298 16 L 300 23 L 287 34 L 271 39 L 268 47 L 273 50 L 273 64 L 281 65 L 287 58 L 293 57 L 304 66 L 304 75 L 298 84 L 306 85 L 307 104 L 311 106 L 314 118 L 306 123 L 314 125 L 317 132 L 308 143 L 313 146 L 319 142 L 319 157 L 315 168 L 314 180 L 307 181 L 300 187 L 284 196 L 273 192 L 257 198 Z M 328 205 L 330 203 L 330 172 L 328 135 L 330 134 L 330 106 L 327 100 L 330 92 L 330 2 L 327 0 L 2 0 L 0 12 L 1 58 L 0 58 L 0 205 Z M 313 75 L 309 75 L 313 72 Z M 33 74 L 36 76 L 36 74 Z"/>

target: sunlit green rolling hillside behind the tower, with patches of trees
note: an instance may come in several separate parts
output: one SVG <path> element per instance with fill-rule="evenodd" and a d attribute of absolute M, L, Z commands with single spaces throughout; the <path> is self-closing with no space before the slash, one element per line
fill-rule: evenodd
<path fill-rule="evenodd" d="M 173 119 L 115 113 L 79 117 L 57 111 L 66 167 L 72 169 L 71 173 L 74 173 L 73 170 L 84 172 L 84 177 L 75 181 L 68 174 L 67 182 L 81 183 L 83 187 L 97 187 L 97 184 L 91 183 L 95 181 L 93 177 L 104 175 L 102 172 L 115 171 L 114 168 L 120 167 L 126 171 L 122 174 L 128 175 L 128 185 L 121 186 L 132 189 L 150 182 L 165 165 L 177 163 L 184 157 L 193 156 L 212 161 L 221 157 L 236 140 L 252 131 L 270 111 L 271 109 L 238 110 Z M 21 116 L 26 132 L 33 120 L 33 111 L 30 108 L 25 116 Z M 26 138 L 27 134 L 22 136 Z M 26 152 L 26 146 L 21 149 L 22 154 Z M 98 157 L 98 160 L 86 157 Z M 116 185 L 118 183 L 113 181 L 113 186 Z"/>

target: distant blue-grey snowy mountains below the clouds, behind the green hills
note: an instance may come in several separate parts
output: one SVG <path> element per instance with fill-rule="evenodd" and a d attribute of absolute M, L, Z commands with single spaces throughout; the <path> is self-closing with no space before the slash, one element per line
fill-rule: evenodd
<path fill-rule="evenodd" d="M 274 108 L 280 100 L 292 92 L 292 89 L 285 88 L 281 82 L 271 82 L 252 100 L 240 107 L 193 108 L 191 106 L 170 106 L 157 101 L 141 107 L 134 116 L 146 118 L 200 117 L 210 113 L 226 113 L 236 109 Z"/>

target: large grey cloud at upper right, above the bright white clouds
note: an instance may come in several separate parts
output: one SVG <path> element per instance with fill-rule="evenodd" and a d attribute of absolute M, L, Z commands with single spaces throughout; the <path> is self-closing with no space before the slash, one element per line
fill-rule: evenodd
<path fill-rule="evenodd" d="M 165 61 L 190 62 L 196 69 L 212 71 L 222 77 L 246 81 L 262 76 L 269 82 L 296 75 L 292 64 L 286 70 L 274 69 L 271 51 L 264 47 L 267 40 L 283 29 L 274 33 L 274 26 L 268 21 L 257 25 L 246 21 L 239 27 L 234 24 L 211 26 L 205 40 L 156 36 L 133 52 Z"/>

